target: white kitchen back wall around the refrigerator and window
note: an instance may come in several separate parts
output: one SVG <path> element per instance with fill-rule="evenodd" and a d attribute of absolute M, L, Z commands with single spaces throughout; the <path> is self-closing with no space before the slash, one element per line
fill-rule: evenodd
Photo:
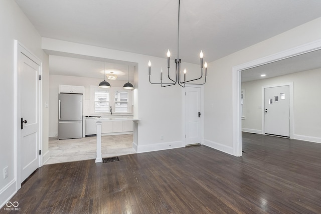
<path fill-rule="evenodd" d="M 102 77 L 103 78 L 103 77 Z M 49 137 L 56 137 L 58 134 L 58 94 L 59 85 L 77 85 L 85 87 L 84 94 L 84 115 L 90 116 L 90 86 L 96 85 L 103 79 L 88 77 L 73 77 L 62 75 L 49 75 Z M 108 80 L 112 87 L 122 87 L 127 81 Z M 101 115 L 101 114 L 100 114 Z"/>

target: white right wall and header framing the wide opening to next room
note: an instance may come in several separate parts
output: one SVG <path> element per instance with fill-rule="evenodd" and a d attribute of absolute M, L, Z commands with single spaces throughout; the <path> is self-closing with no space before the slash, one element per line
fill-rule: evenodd
<path fill-rule="evenodd" d="M 204 97 L 206 145 L 233 154 L 233 144 L 238 139 L 233 129 L 237 126 L 233 120 L 232 89 L 237 87 L 233 86 L 233 67 L 320 40 L 319 26 L 321 18 L 209 63 Z"/>

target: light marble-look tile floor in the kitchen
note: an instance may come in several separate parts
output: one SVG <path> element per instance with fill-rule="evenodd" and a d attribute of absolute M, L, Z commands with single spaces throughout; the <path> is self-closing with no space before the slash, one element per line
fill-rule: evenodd
<path fill-rule="evenodd" d="M 102 157 L 133 154 L 133 135 L 108 135 L 101 138 Z M 57 140 L 49 138 L 51 158 L 45 164 L 96 159 L 96 137 Z"/>

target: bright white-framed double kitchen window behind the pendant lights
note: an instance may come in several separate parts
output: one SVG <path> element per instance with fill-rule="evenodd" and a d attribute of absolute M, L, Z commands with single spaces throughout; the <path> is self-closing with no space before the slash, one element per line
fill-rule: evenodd
<path fill-rule="evenodd" d="M 131 113 L 131 100 L 131 90 L 119 87 L 102 89 L 98 86 L 90 86 L 91 114 L 110 114 L 110 106 L 113 114 Z"/>

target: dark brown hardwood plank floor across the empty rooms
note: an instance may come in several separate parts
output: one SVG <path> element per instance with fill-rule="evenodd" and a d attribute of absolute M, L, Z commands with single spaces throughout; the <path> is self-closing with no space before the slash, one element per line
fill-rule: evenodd
<path fill-rule="evenodd" d="M 191 146 L 44 165 L 11 201 L 21 213 L 321 213 L 321 144 L 243 133 L 243 151 Z"/>

